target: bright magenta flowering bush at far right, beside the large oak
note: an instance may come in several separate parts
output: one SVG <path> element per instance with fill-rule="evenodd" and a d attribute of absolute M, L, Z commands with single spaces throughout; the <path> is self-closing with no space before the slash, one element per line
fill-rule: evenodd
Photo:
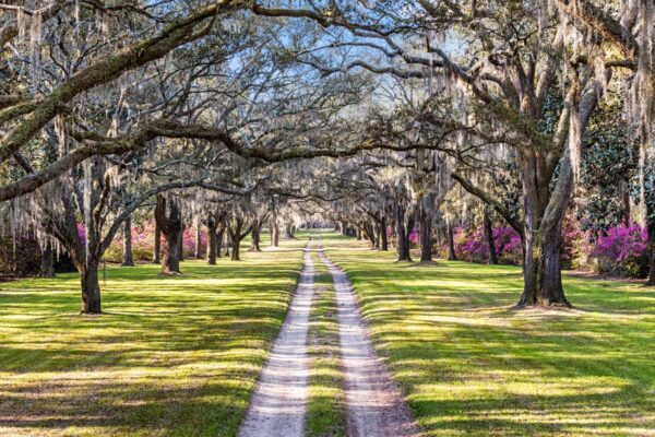
<path fill-rule="evenodd" d="M 648 235 L 639 225 L 610 227 L 592 245 L 600 273 L 645 277 L 648 273 Z"/>

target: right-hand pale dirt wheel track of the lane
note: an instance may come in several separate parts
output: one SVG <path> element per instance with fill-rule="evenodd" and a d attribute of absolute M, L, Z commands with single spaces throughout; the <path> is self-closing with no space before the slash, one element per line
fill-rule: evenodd
<path fill-rule="evenodd" d="M 322 250 L 319 255 L 332 274 L 336 293 L 348 436 L 420 436 L 391 373 L 373 350 L 350 280 Z"/>

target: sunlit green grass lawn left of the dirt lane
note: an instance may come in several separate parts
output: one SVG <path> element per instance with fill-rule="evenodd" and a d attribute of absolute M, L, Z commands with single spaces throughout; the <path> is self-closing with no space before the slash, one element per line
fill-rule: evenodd
<path fill-rule="evenodd" d="M 79 314 L 76 274 L 0 283 L 0 435 L 234 436 L 302 245 L 177 277 L 109 268 L 99 317 Z"/>

